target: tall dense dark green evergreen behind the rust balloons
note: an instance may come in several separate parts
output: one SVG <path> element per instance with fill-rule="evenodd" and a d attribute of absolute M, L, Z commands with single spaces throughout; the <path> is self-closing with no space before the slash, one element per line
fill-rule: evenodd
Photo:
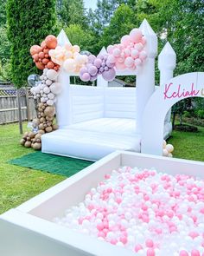
<path fill-rule="evenodd" d="M 32 45 L 54 32 L 55 0 L 8 0 L 8 36 L 11 43 L 11 79 L 17 88 L 36 73 L 29 54 Z"/>

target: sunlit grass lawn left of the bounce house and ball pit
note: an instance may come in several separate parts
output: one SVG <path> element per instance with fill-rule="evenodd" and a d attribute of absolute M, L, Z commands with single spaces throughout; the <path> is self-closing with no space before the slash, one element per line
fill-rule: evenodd
<path fill-rule="evenodd" d="M 0 126 L 0 213 L 20 205 L 65 179 L 60 175 L 8 164 L 10 159 L 34 151 L 19 145 L 21 137 L 17 124 Z"/>

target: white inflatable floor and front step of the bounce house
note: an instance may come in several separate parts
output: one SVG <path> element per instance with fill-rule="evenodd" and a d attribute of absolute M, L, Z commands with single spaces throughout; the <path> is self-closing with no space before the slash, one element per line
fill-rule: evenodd
<path fill-rule="evenodd" d="M 165 134 L 171 132 L 165 126 Z M 42 136 L 42 152 L 97 161 L 115 150 L 140 152 L 136 121 L 99 118 L 83 121 Z"/>

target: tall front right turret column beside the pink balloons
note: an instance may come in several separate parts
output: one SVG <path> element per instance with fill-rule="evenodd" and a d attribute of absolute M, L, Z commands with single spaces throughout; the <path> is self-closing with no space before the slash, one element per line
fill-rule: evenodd
<path fill-rule="evenodd" d="M 145 65 L 137 73 L 137 134 L 142 131 L 143 110 L 155 91 L 155 58 L 157 55 L 157 36 L 146 19 L 140 25 L 146 38 L 144 50 L 147 52 Z"/>

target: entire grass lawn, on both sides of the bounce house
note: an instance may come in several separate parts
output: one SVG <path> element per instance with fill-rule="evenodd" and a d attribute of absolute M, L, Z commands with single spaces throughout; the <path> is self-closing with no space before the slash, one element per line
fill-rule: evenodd
<path fill-rule="evenodd" d="M 21 137 L 17 124 L 0 126 L 0 213 L 65 179 L 63 176 L 8 164 L 10 159 L 34 151 L 19 145 Z M 169 143 L 175 146 L 174 157 L 204 161 L 204 128 L 199 128 L 199 132 L 194 134 L 173 132 Z"/>

